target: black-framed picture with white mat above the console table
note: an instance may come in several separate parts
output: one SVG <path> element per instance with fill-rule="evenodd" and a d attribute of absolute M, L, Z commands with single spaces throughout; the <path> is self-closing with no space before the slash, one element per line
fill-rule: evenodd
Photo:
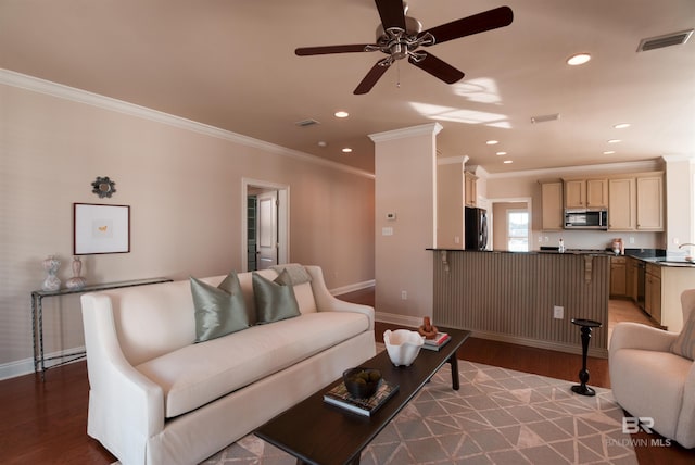
<path fill-rule="evenodd" d="M 130 206 L 73 204 L 73 253 L 94 255 L 130 252 Z"/>

